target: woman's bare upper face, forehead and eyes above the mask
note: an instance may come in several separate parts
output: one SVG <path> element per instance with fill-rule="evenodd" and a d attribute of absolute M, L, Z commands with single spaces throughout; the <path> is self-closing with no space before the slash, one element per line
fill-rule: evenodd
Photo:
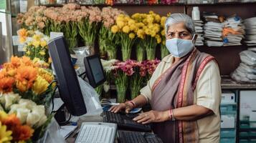
<path fill-rule="evenodd" d="M 191 33 L 186 29 L 184 22 L 172 24 L 167 29 L 166 39 L 192 39 Z"/>

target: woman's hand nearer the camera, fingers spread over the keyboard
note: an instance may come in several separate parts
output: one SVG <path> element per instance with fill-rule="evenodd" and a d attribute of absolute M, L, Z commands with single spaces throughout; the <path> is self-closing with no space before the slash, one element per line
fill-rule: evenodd
<path fill-rule="evenodd" d="M 135 117 L 133 121 L 136 121 L 142 124 L 148 124 L 151 122 L 165 122 L 169 119 L 170 119 L 169 111 L 158 112 L 158 111 L 151 110 L 150 112 L 144 112 L 138 115 L 138 117 Z"/>

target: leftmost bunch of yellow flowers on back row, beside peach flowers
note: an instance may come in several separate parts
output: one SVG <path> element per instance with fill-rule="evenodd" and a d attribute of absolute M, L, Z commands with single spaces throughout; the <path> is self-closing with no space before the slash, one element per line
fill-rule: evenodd
<path fill-rule="evenodd" d="M 136 22 L 130 16 L 120 14 L 111 27 L 113 34 L 118 34 L 120 39 L 123 61 L 131 58 L 131 49 L 136 41 Z"/>

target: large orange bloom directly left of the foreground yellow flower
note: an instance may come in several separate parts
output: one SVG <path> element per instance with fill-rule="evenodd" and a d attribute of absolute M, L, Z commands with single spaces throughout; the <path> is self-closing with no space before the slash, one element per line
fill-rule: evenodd
<path fill-rule="evenodd" d="M 37 69 L 32 66 L 19 66 L 16 73 L 16 87 L 21 92 L 26 92 L 27 89 L 30 89 L 35 79 L 37 79 Z"/>

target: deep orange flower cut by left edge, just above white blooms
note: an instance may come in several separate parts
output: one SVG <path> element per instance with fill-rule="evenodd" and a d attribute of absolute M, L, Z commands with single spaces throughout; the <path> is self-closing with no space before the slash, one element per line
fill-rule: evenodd
<path fill-rule="evenodd" d="M 12 77 L 3 77 L 0 80 L 0 92 L 11 92 L 15 79 Z"/>

